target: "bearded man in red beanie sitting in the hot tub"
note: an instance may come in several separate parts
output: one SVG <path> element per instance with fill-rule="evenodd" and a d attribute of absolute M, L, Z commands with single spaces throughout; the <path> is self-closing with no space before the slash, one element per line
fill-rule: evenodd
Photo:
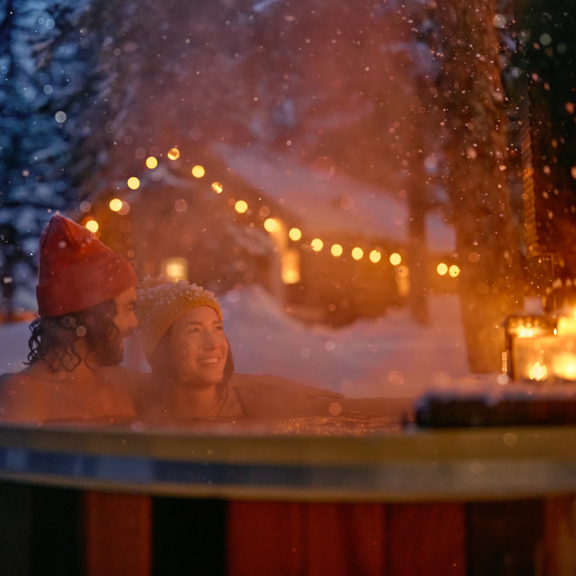
<path fill-rule="evenodd" d="M 134 417 L 124 339 L 138 322 L 137 276 L 122 256 L 61 215 L 40 237 L 39 318 L 31 324 L 29 366 L 0 377 L 4 420 Z"/>

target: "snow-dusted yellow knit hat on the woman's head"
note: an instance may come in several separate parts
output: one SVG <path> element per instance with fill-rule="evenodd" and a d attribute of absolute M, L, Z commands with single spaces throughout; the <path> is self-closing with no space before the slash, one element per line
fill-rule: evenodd
<path fill-rule="evenodd" d="M 146 358 L 179 317 L 191 308 L 210 306 L 222 320 L 222 309 L 214 293 L 184 280 L 170 282 L 164 276 L 146 276 L 136 286 L 136 315 Z"/>

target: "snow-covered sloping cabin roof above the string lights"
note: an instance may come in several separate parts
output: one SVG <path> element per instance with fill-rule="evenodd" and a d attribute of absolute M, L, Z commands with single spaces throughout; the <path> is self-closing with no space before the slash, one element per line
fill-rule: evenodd
<path fill-rule="evenodd" d="M 310 166 L 294 161 L 290 153 L 220 143 L 211 149 L 264 196 L 283 199 L 283 208 L 291 211 L 310 234 L 353 233 L 402 244 L 408 239 L 406 199 L 391 191 L 348 176 L 320 179 Z M 440 211 L 427 214 L 426 234 L 429 249 L 454 251 L 453 229 Z"/>

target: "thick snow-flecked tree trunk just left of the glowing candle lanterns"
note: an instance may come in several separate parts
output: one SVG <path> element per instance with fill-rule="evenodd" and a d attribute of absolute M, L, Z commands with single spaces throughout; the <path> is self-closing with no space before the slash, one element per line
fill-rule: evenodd
<path fill-rule="evenodd" d="M 446 109 L 447 191 L 461 263 L 460 301 L 472 372 L 495 372 L 502 323 L 521 305 L 518 240 L 506 178 L 503 89 L 495 0 L 438 0 L 444 66 L 439 94 Z"/>

